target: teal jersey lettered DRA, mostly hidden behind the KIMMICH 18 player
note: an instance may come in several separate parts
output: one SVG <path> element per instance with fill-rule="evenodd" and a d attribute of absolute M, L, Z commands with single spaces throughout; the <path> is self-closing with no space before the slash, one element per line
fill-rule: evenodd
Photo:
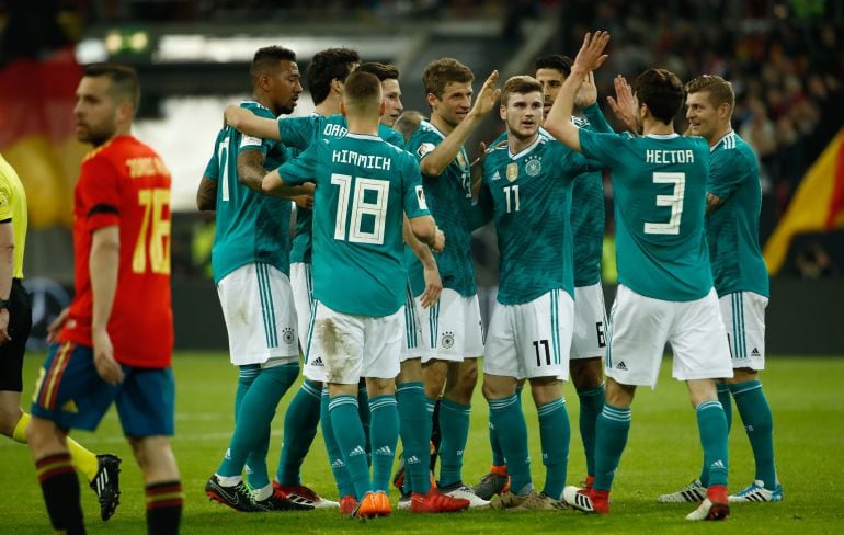
<path fill-rule="evenodd" d="M 331 139 L 346 135 L 347 124 L 343 115 L 324 117 L 317 113 L 306 117 L 283 117 L 278 119 L 278 135 L 282 143 L 294 149 L 305 150 L 318 139 Z M 404 147 L 401 134 L 392 128 L 379 125 L 378 135 L 396 147 Z M 293 238 L 290 262 L 310 263 L 312 235 L 312 213 L 307 208 L 297 207 L 296 232 Z"/>

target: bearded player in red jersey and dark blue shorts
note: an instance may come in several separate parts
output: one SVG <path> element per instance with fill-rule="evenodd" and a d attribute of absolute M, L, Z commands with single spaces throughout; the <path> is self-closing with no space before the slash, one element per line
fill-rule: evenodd
<path fill-rule="evenodd" d="M 72 428 L 93 431 L 115 402 L 144 474 L 147 528 L 178 533 L 182 483 L 170 448 L 170 172 L 132 136 L 140 100 L 135 70 L 85 68 L 73 110 L 77 137 L 94 150 L 73 195 L 76 296 L 44 363 L 28 443 L 53 527 L 84 533 L 68 452 Z"/>

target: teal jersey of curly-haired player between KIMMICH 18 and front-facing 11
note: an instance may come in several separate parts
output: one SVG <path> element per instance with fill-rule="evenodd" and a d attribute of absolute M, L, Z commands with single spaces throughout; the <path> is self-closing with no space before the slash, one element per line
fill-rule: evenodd
<path fill-rule="evenodd" d="M 408 140 L 408 151 L 422 160 L 445 135 L 431 123 L 423 121 L 419 129 Z M 471 175 L 469 158 L 460 147 L 457 157 L 440 177 L 422 175 L 422 184 L 427 196 L 427 205 L 436 225 L 446 236 L 445 250 L 436 255 L 440 276 L 444 288 L 450 288 L 464 297 L 475 295 L 475 270 L 471 259 L 471 232 L 469 212 L 471 210 Z M 424 287 L 418 280 L 419 271 L 411 281 L 415 289 Z"/>

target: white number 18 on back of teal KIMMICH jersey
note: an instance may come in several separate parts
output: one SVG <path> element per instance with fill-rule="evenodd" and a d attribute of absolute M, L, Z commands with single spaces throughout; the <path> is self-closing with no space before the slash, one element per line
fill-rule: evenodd
<path fill-rule="evenodd" d="M 384 226 L 390 183 L 384 180 L 357 177 L 354 181 L 354 192 L 352 192 L 352 177 L 338 173 L 331 175 L 331 183 L 340 189 L 337 201 L 334 239 L 346 240 L 346 226 L 351 212 L 352 221 L 349 225 L 347 241 L 375 246 L 384 244 Z M 367 227 L 369 227 L 368 223 L 372 221 L 372 230 L 363 228 L 364 221 L 367 223 Z"/>

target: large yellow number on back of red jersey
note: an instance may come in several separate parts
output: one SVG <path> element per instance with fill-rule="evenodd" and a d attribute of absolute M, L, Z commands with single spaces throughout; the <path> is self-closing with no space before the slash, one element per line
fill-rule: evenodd
<path fill-rule="evenodd" d="M 147 271 L 149 251 L 149 271 L 159 275 L 170 274 L 170 190 L 139 190 L 138 204 L 144 207 L 144 219 L 132 255 L 132 271 Z"/>

